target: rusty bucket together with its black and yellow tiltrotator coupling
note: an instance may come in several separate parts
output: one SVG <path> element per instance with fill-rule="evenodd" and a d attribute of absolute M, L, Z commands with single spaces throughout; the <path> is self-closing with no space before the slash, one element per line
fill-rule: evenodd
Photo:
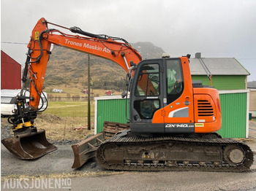
<path fill-rule="evenodd" d="M 18 158 L 33 160 L 56 150 L 57 147 L 48 142 L 45 130 L 37 130 L 34 126 L 38 111 L 31 110 L 26 103 L 28 98 L 30 97 L 22 93 L 15 97 L 17 109 L 15 109 L 15 114 L 8 118 L 8 122 L 12 124 L 14 136 L 1 140 L 1 143 Z"/>

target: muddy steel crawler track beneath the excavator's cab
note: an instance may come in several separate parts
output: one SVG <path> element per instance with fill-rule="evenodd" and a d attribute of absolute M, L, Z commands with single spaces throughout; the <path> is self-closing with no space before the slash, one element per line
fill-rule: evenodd
<path fill-rule="evenodd" d="M 97 149 L 100 165 L 124 171 L 249 171 L 252 150 L 233 139 L 113 136 Z"/>

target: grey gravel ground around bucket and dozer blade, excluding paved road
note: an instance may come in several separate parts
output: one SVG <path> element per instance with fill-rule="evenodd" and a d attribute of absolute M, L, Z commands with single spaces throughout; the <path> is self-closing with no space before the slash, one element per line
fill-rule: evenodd
<path fill-rule="evenodd" d="M 6 121 L 6 118 L 1 119 L 1 139 L 6 139 L 7 137 L 12 136 L 12 133 L 10 133 L 10 125 L 8 125 Z M 245 139 L 245 141 L 256 155 L 256 121 L 250 121 L 249 124 L 249 139 Z M 78 141 L 49 141 L 55 144 L 58 149 L 37 160 L 19 160 L 1 144 L 1 176 L 10 176 L 12 174 L 28 174 L 30 176 L 34 174 L 74 174 L 81 171 L 105 171 L 102 167 L 97 165 L 95 159 L 89 160 L 89 162 L 81 168 L 72 169 L 71 166 L 74 156 L 71 145 L 76 144 Z M 252 165 L 252 169 L 255 174 L 256 162 Z"/>

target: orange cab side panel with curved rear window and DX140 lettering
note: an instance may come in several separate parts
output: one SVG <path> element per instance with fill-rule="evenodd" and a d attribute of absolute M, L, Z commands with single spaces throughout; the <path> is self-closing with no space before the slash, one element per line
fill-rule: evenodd
<path fill-rule="evenodd" d="M 187 57 L 165 60 L 165 133 L 193 133 L 192 80 Z"/>

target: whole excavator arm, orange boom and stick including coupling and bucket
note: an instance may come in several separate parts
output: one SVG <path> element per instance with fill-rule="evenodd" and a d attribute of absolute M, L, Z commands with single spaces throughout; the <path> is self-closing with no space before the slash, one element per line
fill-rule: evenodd
<path fill-rule="evenodd" d="M 64 28 L 72 34 L 48 28 L 48 24 Z M 28 44 L 29 50 L 22 78 L 23 86 L 15 101 L 17 110 L 8 119 L 12 123 L 15 136 L 1 141 L 10 152 L 22 159 L 35 159 L 56 149 L 45 138 L 45 130 L 37 131 L 34 126 L 37 112 L 41 109 L 38 107 L 39 101 L 43 100 L 42 96 L 44 96 L 42 87 L 51 44 L 106 58 L 118 63 L 127 73 L 129 73 L 129 61 L 137 64 L 142 60 L 140 54 L 124 39 L 90 34 L 78 27 L 67 28 L 41 18 L 34 27 Z M 30 94 L 26 97 L 24 87 L 28 74 Z M 28 99 L 29 104 L 26 103 Z"/>

